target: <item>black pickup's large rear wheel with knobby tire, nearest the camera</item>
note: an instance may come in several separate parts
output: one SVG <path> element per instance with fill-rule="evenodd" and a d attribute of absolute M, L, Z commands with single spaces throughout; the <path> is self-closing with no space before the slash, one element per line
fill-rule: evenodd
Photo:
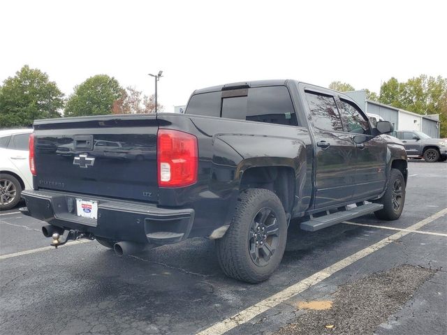
<path fill-rule="evenodd" d="M 240 193 L 230 228 L 215 242 L 217 259 L 227 276 L 261 283 L 279 266 L 286 240 L 281 200 L 272 191 L 249 188 Z"/>

